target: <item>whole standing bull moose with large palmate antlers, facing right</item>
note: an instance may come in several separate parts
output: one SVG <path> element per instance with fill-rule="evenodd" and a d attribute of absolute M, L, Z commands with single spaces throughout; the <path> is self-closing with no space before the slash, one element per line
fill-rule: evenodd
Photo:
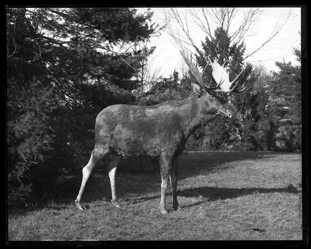
<path fill-rule="evenodd" d="M 229 73 L 224 68 L 225 63 L 220 66 L 216 58 L 212 62 L 209 57 L 216 86 L 211 86 L 212 81 L 206 85 L 203 75 L 208 63 L 203 72 L 199 73 L 197 62 L 195 65 L 192 62 L 192 54 L 189 59 L 184 51 L 180 53 L 201 86 L 191 83 L 191 94 L 181 101 L 170 100 L 154 106 L 120 104 L 102 110 L 96 118 L 95 146 L 91 158 L 82 169 L 82 183 L 75 200 L 78 209 L 86 209 L 81 201 L 86 182 L 96 163 L 108 153 L 112 153 L 112 161 L 107 171 L 114 207 L 122 208 L 115 187 L 115 174 L 122 156 L 136 157 L 146 154 L 160 157 L 162 183 L 159 209 L 161 213 L 169 214 L 165 206 L 165 193 L 169 180 L 172 186 L 173 209 L 180 209 L 176 190 L 177 163 L 187 139 L 198 127 L 205 126 L 217 115 L 233 117 L 233 106 L 219 93 L 240 93 L 246 88 L 243 84 L 237 89 L 237 82 L 230 89 L 242 72 L 230 82 Z"/>

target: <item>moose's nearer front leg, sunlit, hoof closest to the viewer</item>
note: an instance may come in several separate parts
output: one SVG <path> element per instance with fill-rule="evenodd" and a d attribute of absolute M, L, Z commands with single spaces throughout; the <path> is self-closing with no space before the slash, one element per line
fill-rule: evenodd
<path fill-rule="evenodd" d="M 169 214 L 165 206 L 165 194 L 166 194 L 167 185 L 169 183 L 169 171 L 170 171 L 171 165 L 172 165 L 172 157 L 162 154 L 160 156 L 162 183 L 161 183 L 161 200 L 160 200 L 160 205 L 159 205 L 159 209 L 162 214 Z"/>

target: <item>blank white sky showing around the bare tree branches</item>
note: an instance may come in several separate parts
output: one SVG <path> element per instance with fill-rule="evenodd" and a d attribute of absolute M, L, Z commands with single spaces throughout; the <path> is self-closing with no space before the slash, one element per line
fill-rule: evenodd
<path fill-rule="evenodd" d="M 290 19 L 285 23 L 279 34 L 258 52 L 248 57 L 246 61 L 251 62 L 254 66 L 264 66 L 267 72 L 277 71 L 278 68 L 275 66 L 275 62 L 282 61 L 282 59 L 286 62 L 291 61 L 293 65 L 297 65 L 295 55 L 293 54 L 293 48 L 300 47 L 301 43 L 301 37 L 299 35 L 299 31 L 301 31 L 300 8 L 273 7 L 265 9 L 266 11 L 264 15 L 262 15 L 261 21 L 258 23 L 258 28 L 256 27 L 258 34 L 249 36 L 244 40 L 246 54 L 268 39 L 268 36 L 272 32 L 272 28 L 280 21 L 282 15 L 286 14 L 289 9 L 291 9 L 292 13 Z M 146 11 L 146 8 L 139 8 L 139 12 L 143 11 Z M 152 21 L 160 24 L 164 19 L 160 8 L 151 8 L 151 11 L 154 12 Z M 198 42 L 205 39 L 205 35 L 200 33 L 198 29 L 193 30 L 196 34 L 194 35 L 196 37 L 193 37 L 193 39 L 196 39 Z M 152 66 L 155 69 L 161 68 L 159 76 L 167 77 L 174 72 L 175 68 L 177 71 L 181 71 L 180 64 L 182 62 L 182 57 L 179 53 L 179 48 L 173 45 L 172 38 L 166 32 L 162 31 L 160 37 L 153 38 L 150 45 L 155 45 L 157 47 L 153 54 L 155 59 L 152 62 Z"/>

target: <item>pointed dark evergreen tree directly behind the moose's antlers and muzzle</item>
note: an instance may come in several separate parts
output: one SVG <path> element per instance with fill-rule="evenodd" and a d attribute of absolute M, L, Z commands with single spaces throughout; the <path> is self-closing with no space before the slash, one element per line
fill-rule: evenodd
<path fill-rule="evenodd" d="M 236 150 L 258 150 L 260 149 L 257 139 L 258 119 L 260 118 L 258 112 L 262 102 L 261 86 L 256 83 L 258 75 L 252 73 L 251 64 L 243 62 L 244 42 L 232 42 L 230 36 L 221 27 L 216 29 L 214 37 L 213 40 L 207 37 L 205 42 L 202 42 L 204 55 L 203 57 L 197 56 L 198 64 L 202 68 L 205 67 L 208 56 L 211 59 L 216 58 L 220 65 L 227 61 L 226 67 L 230 80 L 232 81 L 243 70 L 238 80 L 243 82 L 247 88 L 243 93 L 230 93 L 226 96 L 236 108 L 236 119 L 217 117 L 214 122 L 208 124 L 205 127 L 203 146 L 207 146 L 210 150 L 227 150 L 232 146 Z M 207 67 L 204 78 L 206 82 L 211 80 L 214 82 L 211 67 Z M 214 82 L 216 83 L 218 82 Z"/>

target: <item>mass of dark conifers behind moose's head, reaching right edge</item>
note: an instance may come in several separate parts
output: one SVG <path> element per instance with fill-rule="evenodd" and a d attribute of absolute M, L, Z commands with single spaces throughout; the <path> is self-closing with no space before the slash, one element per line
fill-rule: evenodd
<path fill-rule="evenodd" d="M 221 27 L 214 36 L 202 42 L 203 52 L 196 54 L 198 65 L 206 66 L 208 56 L 220 65 L 226 61 L 232 81 L 242 70 L 237 87 L 245 84 L 242 93 L 224 96 L 236 109 L 236 117 L 217 117 L 205 128 L 198 129 L 188 140 L 188 149 L 233 151 L 301 151 L 301 51 L 294 49 L 299 66 L 276 62 L 279 72 L 263 73 L 245 63 L 244 42 L 234 43 Z M 212 68 L 207 67 L 206 82 L 212 78 Z M 195 78 L 189 72 L 181 84 L 191 85 Z M 218 83 L 218 82 L 217 82 Z"/>

